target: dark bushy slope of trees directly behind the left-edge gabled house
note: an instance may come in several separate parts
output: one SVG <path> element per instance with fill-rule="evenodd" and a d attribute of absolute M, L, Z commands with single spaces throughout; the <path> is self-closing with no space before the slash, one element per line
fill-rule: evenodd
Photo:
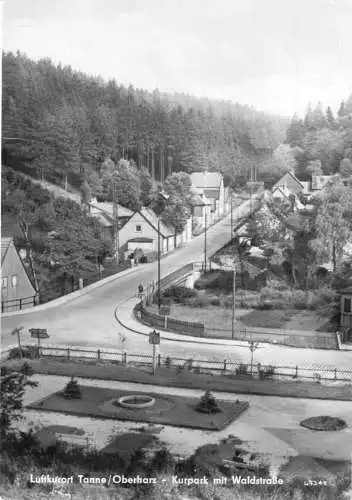
<path fill-rule="evenodd" d="M 112 249 L 98 221 L 11 168 L 1 174 L 2 235 L 27 250 L 24 262 L 40 301 L 72 291 L 79 278 L 86 284 L 99 279 Z"/>

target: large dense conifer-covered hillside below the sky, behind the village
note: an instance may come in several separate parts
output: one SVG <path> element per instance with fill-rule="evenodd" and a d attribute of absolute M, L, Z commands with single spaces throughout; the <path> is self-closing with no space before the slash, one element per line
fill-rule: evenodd
<path fill-rule="evenodd" d="M 287 124 L 239 104 L 126 88 L 49 59 L 3 54 L 4 159 L 66 186 L 87 181 L 94 190 L 106 158 L 145 166 L 161 182 L 204 168 L 243 182 Z"/>

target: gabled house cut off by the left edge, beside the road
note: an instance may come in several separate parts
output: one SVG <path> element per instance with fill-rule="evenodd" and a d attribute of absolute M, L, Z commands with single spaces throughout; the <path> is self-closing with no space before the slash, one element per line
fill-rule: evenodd
<path fill-rule="evenodd" d="M 13 239 L 1 238 L 2 312 L 33 307 L 36 295 Z"/>

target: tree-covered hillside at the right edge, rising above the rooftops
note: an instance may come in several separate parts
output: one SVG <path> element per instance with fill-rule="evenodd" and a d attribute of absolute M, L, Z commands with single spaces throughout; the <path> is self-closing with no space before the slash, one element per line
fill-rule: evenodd
<path fill-rule="evenodd" d="M 352 94 L 334 116 L 330 107 L 308 106 L 304 119 L 293 117 L 287 130 L 287 144 L 296 160 L 301 180 L 313 174 L 352 175 Z"/>

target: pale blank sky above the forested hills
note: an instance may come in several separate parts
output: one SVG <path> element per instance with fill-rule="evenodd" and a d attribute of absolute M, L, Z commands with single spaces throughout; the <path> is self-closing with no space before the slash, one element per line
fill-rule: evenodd
<path fill-rule="evenodd" d="M 4 0 L 2 45 L 137 88 L 302 115 L 352 92 L 352 0 Z"/>

